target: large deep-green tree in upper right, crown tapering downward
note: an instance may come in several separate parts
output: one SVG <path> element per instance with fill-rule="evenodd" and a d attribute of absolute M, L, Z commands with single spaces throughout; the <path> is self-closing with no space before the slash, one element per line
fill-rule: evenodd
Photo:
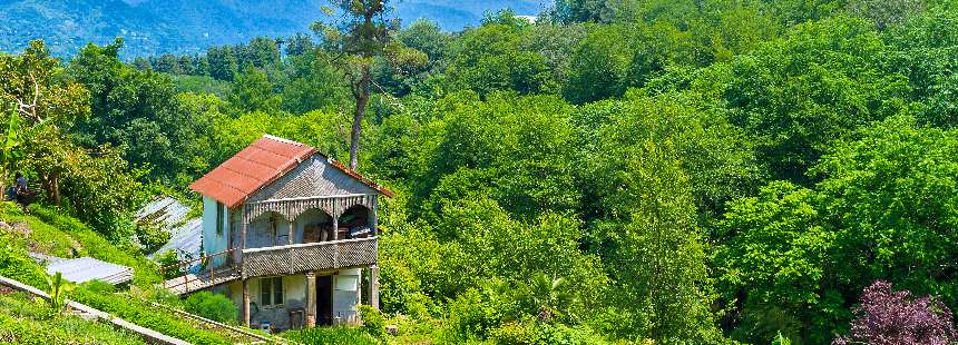
<path fill-rule="evenodd" d="M 694 83 L 733 108 L 732 122 L 755 136 L 773 178 L 809 184 L 805 171 L 829 142 L 911 107 L 907 80 L 882 71 L 888 52 L 870 23 L 831 18 L 800 24 Z"/>

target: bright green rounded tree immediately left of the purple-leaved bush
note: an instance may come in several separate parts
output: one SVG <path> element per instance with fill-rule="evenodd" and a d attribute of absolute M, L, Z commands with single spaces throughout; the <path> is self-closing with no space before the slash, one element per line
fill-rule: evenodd
<path fill-rule="evenodd" d="M 812 315 L 830 302 L 825 282 L 837 264 L 835 235 L 821 220 L 815 193 L 791 183 L 772 183 L 730 204 L 712 260 L 723 298 L 742 308 L 733 336 L 800 341 L 828 333 L 809 329 Z"/>

